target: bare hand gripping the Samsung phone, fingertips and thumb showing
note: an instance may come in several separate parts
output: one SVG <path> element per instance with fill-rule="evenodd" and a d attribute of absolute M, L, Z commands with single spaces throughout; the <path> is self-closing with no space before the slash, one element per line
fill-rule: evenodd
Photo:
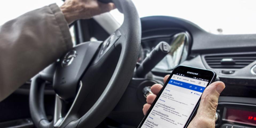
<path fill-rule="evenodd" d="M 164 77 L 164 82 L 168 79 L 170 75 Z M 151 87 L 151 91 L 154 94 L 149 94 L 147 96 L 147 104 L 143 106 L 144 115 L 148 112 L 151 104 L 156 98 L 156 95 L 162 89 L 162 85 L 154 84 Z M 198 111 L 194 119 L 188 125 L 188 128 L 194 127 L 205 127 L 214 128 L 215 127 L 215 113 L 218 105 L 218 98 L 222 90 L 225 88 L 225 84 L 221 81 L 213 82 L 210 84 L 203 92 L 201 97 L 201 102 Z"/>

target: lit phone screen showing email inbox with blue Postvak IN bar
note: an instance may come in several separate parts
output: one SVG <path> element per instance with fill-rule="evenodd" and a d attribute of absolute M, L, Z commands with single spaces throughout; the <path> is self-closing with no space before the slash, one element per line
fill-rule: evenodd
<path fill-rule="evenodd" d="M 142 128 L 183 128 L 207 84 L 173 75 Z"/>

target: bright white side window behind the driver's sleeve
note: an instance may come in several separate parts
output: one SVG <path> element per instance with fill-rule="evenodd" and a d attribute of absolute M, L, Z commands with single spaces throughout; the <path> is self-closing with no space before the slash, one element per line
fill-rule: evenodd
<path fill-rule="evenodd" d="M 28 11 L 35 10 L 46 5 L 56 3 L 58 6 L 63 4 L 62 0 L 7 0 L 1 1 L 0 6 L 0 26 L 5 22 L 14 19 Z M 72 36 L 73 45 L 76 44 L 74 27 L 70 28 L 70 34 Z"/>

